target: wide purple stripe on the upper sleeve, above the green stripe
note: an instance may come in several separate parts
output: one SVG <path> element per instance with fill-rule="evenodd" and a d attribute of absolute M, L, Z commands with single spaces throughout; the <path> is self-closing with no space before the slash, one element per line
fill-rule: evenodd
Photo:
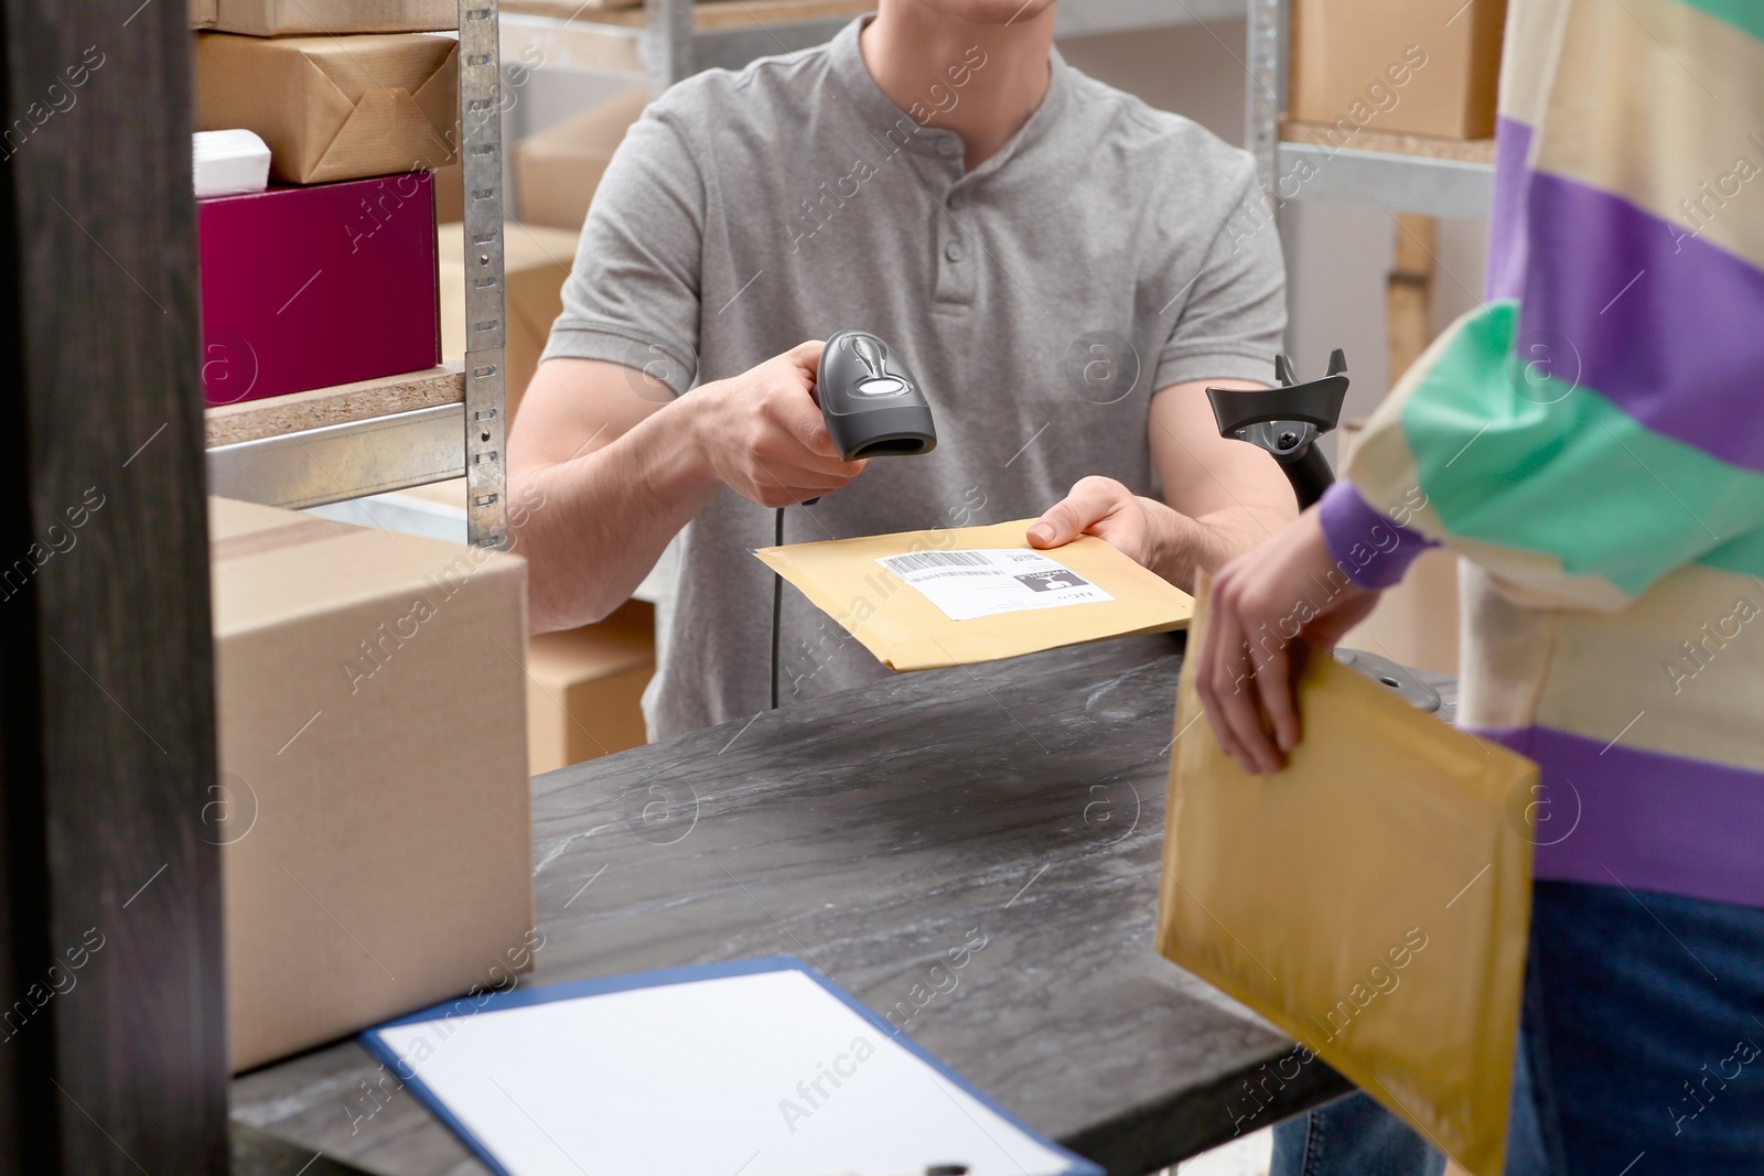
<path fill-rule="evenodd" d="M 1713 208 L 1741 217 L 1745 208 Z M 1764 471 L 1764 272 L 1628 201 L 1531 176 L 1519 354 L 1648 428 Z"/>

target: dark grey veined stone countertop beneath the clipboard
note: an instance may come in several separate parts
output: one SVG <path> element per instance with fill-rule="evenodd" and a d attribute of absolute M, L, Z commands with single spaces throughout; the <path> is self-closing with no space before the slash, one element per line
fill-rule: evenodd
<path fill-rule="evenodd" d="M 524 982 L 797 956 L 1117 1176 L 1342 1093 L 1311 1063 L 1251 1098 L 1291 1042 L 1152 949 L 1180 649 L 910 674 L 536 778 Z M 233 1114 L 377 1172 L 483 1172 L 376 1077 L 330 1046 L 236 1079 Z"/>

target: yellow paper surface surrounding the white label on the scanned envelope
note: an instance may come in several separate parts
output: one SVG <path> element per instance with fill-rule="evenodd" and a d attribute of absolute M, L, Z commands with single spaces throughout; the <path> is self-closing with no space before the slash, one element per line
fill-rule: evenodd
<path fill-rule="evenodd" d="M 1078 573 L 1110 599 L 1058 608 L 954 621 L 924 592 L 877 562 L 887 555 L 1030 552 L 1025 536 L 1034 524 L 1034 518 L 1020 518 L 991 527 L 900 531 L 859 540 L 766 547 L 753 554 L 896 672 L 1016 658 L 1187 624 L 1194 610 L 1192 596 L 1088 534 L 1039 555 Z M 951 568 L 949 575 L 967 571 Z"/>

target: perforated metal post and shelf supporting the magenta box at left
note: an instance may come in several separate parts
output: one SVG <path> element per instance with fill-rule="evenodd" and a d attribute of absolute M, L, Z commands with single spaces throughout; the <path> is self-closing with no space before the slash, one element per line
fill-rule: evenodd
<path fill-rule="evenodd" d="M 208 409 L 212 494 L 300 508 L 466 478 L 467 540 L 508 545 L 497 16 L 497 0 L 459 0 L 464 360 Z"/>

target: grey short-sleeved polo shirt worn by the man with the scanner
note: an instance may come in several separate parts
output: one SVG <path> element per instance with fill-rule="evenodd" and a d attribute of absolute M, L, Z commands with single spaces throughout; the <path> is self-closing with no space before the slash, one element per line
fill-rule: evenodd
<path fill-rule="evenodd" d="M 1272 381 L 1282 268 L 1244 212 L 1249 155 L 1055 53 L 1041 108 L 963 173 L 961 139 L 917 120 L 960 102 L 986 55 L 908 113 L 870 78 L 859 26 L 649 106 L 594 192 L 545 358 L 691 395 L 845 326 L 887 339 L 937 450 L 789 508 L 787 543 L 1034 517 L 1085 474 L 1152 492 L 1157 390 Z M 769 703 L 773 580 L 748 548 L 771 541 L 773 511 L 729 488 L 686 527 L 653 737 Z M 780 645 L 785 703 L 887 675 L 790 587 Z"/>

